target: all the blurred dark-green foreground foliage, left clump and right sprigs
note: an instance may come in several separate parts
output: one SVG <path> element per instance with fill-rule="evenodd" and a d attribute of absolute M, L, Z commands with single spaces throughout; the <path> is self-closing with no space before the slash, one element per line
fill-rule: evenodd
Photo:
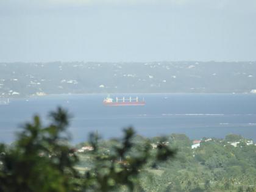
<path fill-rule="evenodd" d="M 91 167 L 81 174 L 75 168 L 80 163 L 76 150 L 68 144 L 68 113 L 58 108 L 49 117 L 49 126 L 43 127 L 35 116 L 14 144 L 0 145 L 0 191 L 138 190 L 138 176 L 145 165 L 153 167 L 176 153 L 163 139 L 152 153 L 149 140 L 136 142 L 132 128 L 124 130 L 124 137 L 113 141 L 112 150 L 104 153 L 99 136 L 91 134 Z"/>

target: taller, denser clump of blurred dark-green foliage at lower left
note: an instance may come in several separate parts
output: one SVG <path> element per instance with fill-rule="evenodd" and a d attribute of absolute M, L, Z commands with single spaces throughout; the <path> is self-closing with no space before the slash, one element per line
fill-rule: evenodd
<path fill-rule="evenodd" d="M 0 191 L 74 191 L 78 158 L 68 146 L 67 113 L 51 113 L 52 123 L 40 118 L 23 127 L 12 147 L 1 145 Z"/>

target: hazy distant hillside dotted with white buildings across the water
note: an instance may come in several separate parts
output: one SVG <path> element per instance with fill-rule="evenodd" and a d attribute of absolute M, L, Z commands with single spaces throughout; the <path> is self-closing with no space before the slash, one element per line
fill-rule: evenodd
<path fill-rule="evenodd" d="M 250 93 L 256 62 L 0 63 L 0 97 L 63 93 Z"/>

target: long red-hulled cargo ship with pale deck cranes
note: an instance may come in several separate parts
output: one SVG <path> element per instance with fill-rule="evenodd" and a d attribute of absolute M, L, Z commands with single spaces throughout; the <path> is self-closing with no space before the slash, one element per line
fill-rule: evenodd
<path fill-rule="evenodd" d="M 144 106 L 146 102 L 144 98 L 142 101 L 139 101 L 138 97 L 136 98 L 110 98 L 109 96 L 103 100 L 105 106 Z"/>

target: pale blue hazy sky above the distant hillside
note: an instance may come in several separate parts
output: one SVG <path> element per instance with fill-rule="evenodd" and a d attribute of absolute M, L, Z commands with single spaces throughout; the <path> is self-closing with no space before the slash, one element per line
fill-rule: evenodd
<path fill-rule="evenodd" d="M 255 0 L 0 0 L 0 62 L 256 60 Z"/>

